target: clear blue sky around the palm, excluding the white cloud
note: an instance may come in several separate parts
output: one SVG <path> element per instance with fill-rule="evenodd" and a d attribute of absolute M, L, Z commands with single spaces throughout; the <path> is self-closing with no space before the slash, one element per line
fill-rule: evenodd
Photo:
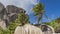
<path fill-rule="evenodd" d="M 39 2 L 39 0 L 37 1 Z M 43 16 L 42 22 L 48 22 L 56 19 L 57 17 L 60 17 L 60 0 L 41 0 L 40 2 L 45 5 L 46 15 L 50 19 L 48 20 L 46 17 Z M 31 18 L 32 17 L 33 14 L 31 14 Z M 31 22 L 36 23 L 36 17 L 33 17 L 31 19 Z"/>

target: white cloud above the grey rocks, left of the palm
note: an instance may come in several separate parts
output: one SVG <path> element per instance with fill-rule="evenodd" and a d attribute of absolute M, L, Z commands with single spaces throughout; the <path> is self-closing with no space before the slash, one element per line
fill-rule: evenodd
<path fill-rule="evenodd" d="M 27 11 L 27 13 L 31 13 L 32 5 L 35 5 L 37 0 L 0 0 L 5 6 L 7 5 L 15 5 L 21 7 Z"/>

